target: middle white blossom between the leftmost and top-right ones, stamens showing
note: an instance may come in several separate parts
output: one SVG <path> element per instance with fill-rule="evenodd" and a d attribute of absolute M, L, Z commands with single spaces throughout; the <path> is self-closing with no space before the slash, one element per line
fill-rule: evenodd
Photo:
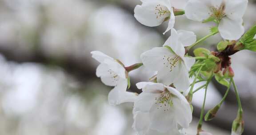
<path fill-rule="evenodd" d="M 163 45 L 167 47 L 152 48 L 140 57 L 145 67 L 158 71 L 157 82 L 167 86 L 173 83 L 179 91 L 185 91 L 190 85 L 188 71 L 195 59 L 184 57 L 184 47 L 194 42 L 196 36 L 193 32 L 176 31 L 172 28 L 171 36 Z"/>

